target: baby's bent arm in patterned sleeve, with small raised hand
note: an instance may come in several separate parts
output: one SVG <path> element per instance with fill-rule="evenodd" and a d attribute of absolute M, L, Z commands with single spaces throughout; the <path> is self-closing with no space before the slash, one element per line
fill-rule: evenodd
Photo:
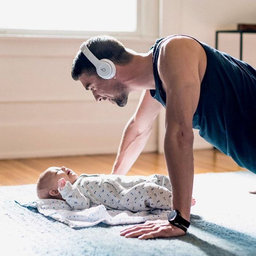
<path fill-rule="evenodd" d="M 90 199 L 85 197 L 78 188 L 74 187 L 69 181 L 61 178 L 58 182 L 59 192 L 62 198 L 70 207 L 76 210 L 84 210 L 90 208 Z"/>

